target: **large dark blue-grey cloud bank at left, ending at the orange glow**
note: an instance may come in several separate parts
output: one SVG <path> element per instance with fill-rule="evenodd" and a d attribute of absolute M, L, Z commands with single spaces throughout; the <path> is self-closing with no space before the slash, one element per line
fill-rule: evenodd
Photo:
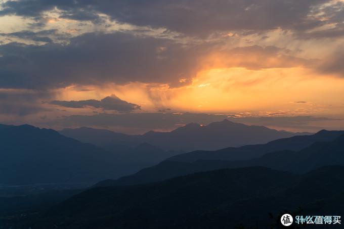
<path fill-rule="evenodd" d="M 52 88 L 140 81 L 179 86 L 195 76 L 198 59 L 210 48 L 121 32 L 83 34 L 68 45 L 9 43 L 0 46 L 0 85 Z"/>

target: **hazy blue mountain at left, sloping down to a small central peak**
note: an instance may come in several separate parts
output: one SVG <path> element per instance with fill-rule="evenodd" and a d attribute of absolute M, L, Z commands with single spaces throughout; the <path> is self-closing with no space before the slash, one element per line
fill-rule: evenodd
<path fill-rule="evenodd" d="M 0 184 L 87 182 L 120 177 L 165 159 L 148 144 L 108 151 L 30 125 L 0 126 Z"/>

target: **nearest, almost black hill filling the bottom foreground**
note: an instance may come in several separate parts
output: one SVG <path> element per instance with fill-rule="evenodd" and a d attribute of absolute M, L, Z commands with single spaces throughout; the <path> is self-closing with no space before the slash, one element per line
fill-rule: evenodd
<path fill-rule="evenodd" d="M 283 212 L 343 215 L 343 189 L 342 166 L 306 174 L 265 167 L 221 169 L 147 185 L 93 188 L 27 217 L 22 227 L 280 228 Z"/>

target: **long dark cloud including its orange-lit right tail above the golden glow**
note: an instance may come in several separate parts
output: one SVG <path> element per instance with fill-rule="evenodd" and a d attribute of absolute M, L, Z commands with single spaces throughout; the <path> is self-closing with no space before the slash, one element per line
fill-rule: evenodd
<path fill-rule="evenodd" d="M 72 38 L 69 44 L 8 43 L 0 45 L 0 85 L 50 89 L 143 82 L 180 87 L 204 68 L 262 69 L 311 63 L 271 46 L 222 46 L 221 42 L 180 43 L 124 32 L 87 33 Z"/>

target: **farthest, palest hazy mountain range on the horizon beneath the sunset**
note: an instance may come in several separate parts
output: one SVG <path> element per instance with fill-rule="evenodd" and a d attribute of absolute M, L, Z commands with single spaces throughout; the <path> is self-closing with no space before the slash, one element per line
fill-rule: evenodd
<path fill-rule="evenodd" d="M 140 143 L 149 143 L 163 150 L 183 152 L 262 144 L 298 134 L 278 131 L 265 126 L 249 126 L 227 119 L 205 126 L 189 123 L 170 132 L 149 131 L 142 135 L 127 135 L 87 127 L 63 129 L 60 133 L 80 142 L 91 143 L 100 147 L 111 145 L 135 146 Z"/>

